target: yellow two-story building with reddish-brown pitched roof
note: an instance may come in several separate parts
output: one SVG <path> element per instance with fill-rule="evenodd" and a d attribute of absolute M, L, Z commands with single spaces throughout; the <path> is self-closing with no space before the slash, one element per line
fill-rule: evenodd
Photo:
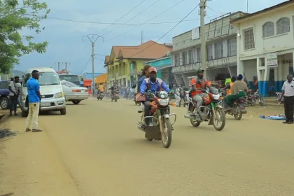
<path fill-rule="evenodd" d="M 137 46 L 113 46 L 111 55 L 105 57 L 109 86 L 115 81 L 121 87 L 131 86 L 141 76 L 147 61 L 158 59 L 172 50 L 171 45 L 147 41 Z"/>

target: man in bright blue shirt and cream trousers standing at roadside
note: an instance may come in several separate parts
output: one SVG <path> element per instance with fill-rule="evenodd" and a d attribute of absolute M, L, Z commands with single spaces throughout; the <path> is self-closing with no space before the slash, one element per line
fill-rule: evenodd
<path fill-rule="evenodd" d="M 31 72 L 31 78 L 27 81 L 27 99 L 29 99 L 29 115 L 27 116 L 26 132 L 41 132 L 38 130 L 38 111 L 40 109 L 41 93 L 38 85 L 38 78 L 40 74 L 37 70 Z"/>

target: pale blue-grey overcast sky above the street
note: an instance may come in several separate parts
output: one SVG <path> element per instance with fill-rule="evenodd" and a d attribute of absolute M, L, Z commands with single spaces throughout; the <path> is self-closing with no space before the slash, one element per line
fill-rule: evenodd
<path fill-rule="evenodd" d="M 70 62 L 68 70 L 72 73 L 92 72 L 92 62 L 87 64 L 90 58 L 92 48 L 91 43 L 87 39 L 83 41 L 83 36 L 87 34 L 99 34 L 104 36 L 96 42 L 95 53 L 95 72 L 106 72 L 104 66 L 104 55 L 109 55 L 112 45 L 139 45 L 141 43 L 141 31 L 144 31 L 144 41 L 157 41 L 169 29 L 176 25 L 176 21 L 182 20 L 189 12 L 199 3 L 197 0 L 146 0 L 137 8 L 132 10 L 143 0 L 50 0 L 48 7 L 51 9 L 47 20 L 41 22 L 45 27 L 45 31 L 35 36 L 35 41 L 48 41 L 48 49 L 45 54 L 32 53 L 21 58 L 20 65 L 15 69 L 25 71 L 36 66 L 51 66 L 57 69 L 55 62 Z M 183 2 L 181 2 L 183 1 Z M 248 0 L 248 12 L 253 13 L 269 6 L 281 3 L 285 0 Z M 156 2 L 156 3 L 155 3 Z M 181 2 L 178 6 L 169 9 L 176 3 Z M 155 3 L 153 6 L 151 6 Z M 148 6 L 151 6 L 148 8 Z M 213 0 L 208 1 L 207 19 L 216 18 L 224 13 L 236 12 L 238 10 L 246 12 L 246 0 Z M 148 8 L 147 10 L 145 10 Z M 154 18 L 150 22 L 174 22 L 166 24 L 153 25 L 103 25 L 97 23 L 86 22 L 116 22 L 123 15 L 127 14 L 118 23 L 141 24 L 156 15 L 167 10 L 167 12 Z M 145 11 L 144 11 L 145 10 Z M 159 43 L 172 43 L 172 37 L 185 31 L 200 26 L 198 15 L 199 8 L 191 13 L 185 22 L 181 22 L 167 36 L 162 38 Z M 140 15 L 138 15 L 141 13 Z M 135 17 L 138 15 L 137 17 Z M 64 19 L 64 20 L 57 20 Z M 69 22 L 66 20 L 76 20 L 85 22 Z M 106 29 L 106 27 L 108 27 Z M 119 27 L 119 28 L 118 28 Z M 137 27 L 137 28 L 135 28 Z M 116 29 L 117 28 L 117 29 Z M 105 29 L 105 30 L 104 30 Z M 113 30 L 114 29 L 114 30 Z M 133 29 L 133 30 L 131 30 Z M 104 31 L 102 31 L 104 30 Z M 125 33 L 126 31 L 130 31 Z M 27 32 L 26 32 L 27 33 Z M 125 33 L 125 34 L 124 34 Z M 123 34 L 123 35 L 121 35 Z M 120 36 L 121 35 L 121 36 Z M 118 37 L 117 37 L 118 36 Z M 64 66 L 64 65 L 63 65 Z"/>

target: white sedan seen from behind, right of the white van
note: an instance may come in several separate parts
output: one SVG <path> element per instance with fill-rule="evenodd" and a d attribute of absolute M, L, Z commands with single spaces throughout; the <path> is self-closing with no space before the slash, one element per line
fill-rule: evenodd
<path fill-rule="evenodd" d="M 62 80 L 62 89 L 66 102 L 73 102 L 73 104 L 80 104 L 81 101 L 89 98 L 89 90 L 86 87 L 79 87 L 78 85 L 66 80 Z"/>

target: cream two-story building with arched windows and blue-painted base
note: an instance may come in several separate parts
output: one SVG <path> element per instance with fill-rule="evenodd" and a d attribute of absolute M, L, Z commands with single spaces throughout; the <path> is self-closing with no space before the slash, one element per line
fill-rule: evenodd
<path fill-rule="evenodd" d="M 294 1 L 285 1 L 232 21 L 238 29 L 238 73 L 258 76 L 262 96 L 281 91 L 293 73 Z M 252 79 L 251 79 L 252 80 Z"/>

